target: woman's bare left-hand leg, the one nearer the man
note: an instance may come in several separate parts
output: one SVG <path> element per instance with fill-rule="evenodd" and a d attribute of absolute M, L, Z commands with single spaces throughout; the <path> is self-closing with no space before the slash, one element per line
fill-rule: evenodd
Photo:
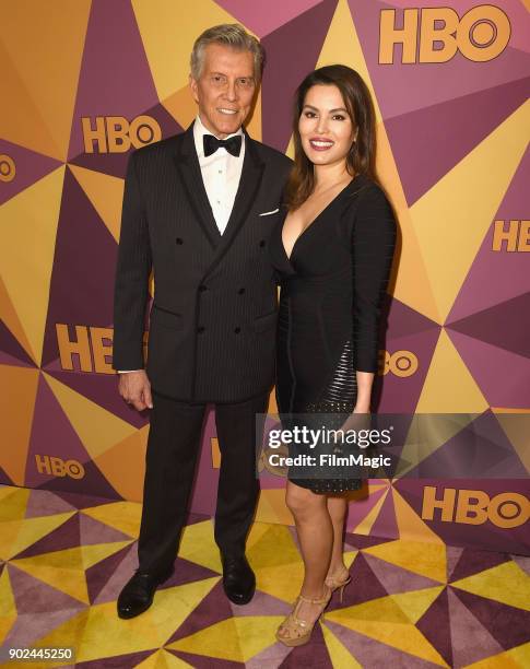
<path fill-rule="evenodd" d="M 326 575 L 331 560 L 333 525 L 326 504 L 326 495 L 319 495 L 306 488 L 287 481 L 285 502 L 293 514 L 305 574 L 301 594 L 320 599 L 327 594 Z M 303 602 L 298 615 L 313 622 L 322 607 Z"/>

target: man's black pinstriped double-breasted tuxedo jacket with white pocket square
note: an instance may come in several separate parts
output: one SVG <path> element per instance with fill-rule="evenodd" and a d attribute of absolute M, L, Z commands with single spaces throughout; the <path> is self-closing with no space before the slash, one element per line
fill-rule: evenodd
<path fill-rule="evenodd" d="M 115 282 L 115 369 L 144 367 L 153 390 L 187 402 L 237 402 L 274 377 L 276 290 L 269 236 L 291 161 L 245 133 L 238 191 L 221 235 L 192 126 L 129 159 Z"/>

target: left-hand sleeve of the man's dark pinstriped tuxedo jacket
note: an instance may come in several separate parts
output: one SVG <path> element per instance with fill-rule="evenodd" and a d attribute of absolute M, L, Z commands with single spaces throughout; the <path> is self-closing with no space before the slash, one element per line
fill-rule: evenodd
<path fill-rule="evenodd" d="M 132 153 L 129 156 L 127 166 L 116 266 L 113 342 L 115 369 L 144 367 L 143 331 L 152 254 L 134 155 Z"/>

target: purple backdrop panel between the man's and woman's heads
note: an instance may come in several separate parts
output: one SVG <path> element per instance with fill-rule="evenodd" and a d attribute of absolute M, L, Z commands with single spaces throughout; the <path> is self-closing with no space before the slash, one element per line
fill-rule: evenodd
<path fill-rule="evenodd" d="M 304 77 L 315 69 L 335 7 L 337 0 L 322 0 L 262 42 L 267 51 L 262 81 L 262 137 L 266 144 L 279 151 L 285 151 L 291 138 L 294 92 Z"/>

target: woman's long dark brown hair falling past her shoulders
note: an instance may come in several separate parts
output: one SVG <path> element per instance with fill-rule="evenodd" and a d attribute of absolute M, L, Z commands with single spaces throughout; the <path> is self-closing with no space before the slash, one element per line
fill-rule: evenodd
<path fill-rule="evenodd" d="M 374 104 L 367 85 L 352 68 L 342 64 L 326 66 L 310 72 L 295 93 L 293 108 L 294 166 L 285 187 L 285 203 L 290 210 L 297 209 L 315 188 L 313 163 L 302 146 L 298 121 L 307 92 L 315 85 L 333 85 L 341 92 L 344 106 L 357 127 L 357 139 L 346 156 L 348 172 L 354 176 L 366 174 L 376 179 L 376 132 Z"/>

